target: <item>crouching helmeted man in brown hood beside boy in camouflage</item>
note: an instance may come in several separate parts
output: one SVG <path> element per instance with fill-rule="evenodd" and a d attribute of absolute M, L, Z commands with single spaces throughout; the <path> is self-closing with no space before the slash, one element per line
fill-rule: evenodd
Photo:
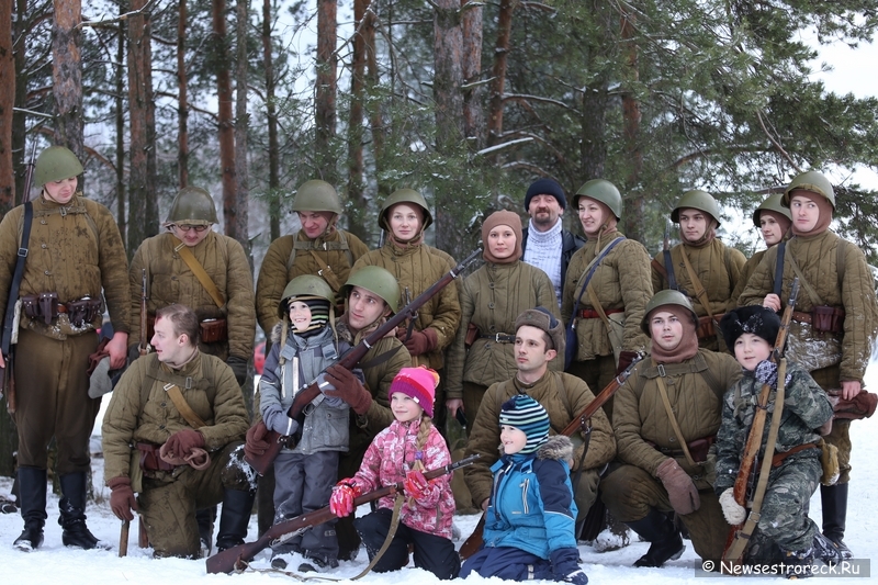
<path fill-rule="evenodd" d="M 707 454 L 722 421 L 723 394 L 741 378 L 741 367 L 728 353 L 699 348 L 697 323 L 683 293 L 655 293 L 640 324 L 651 339 L 651 359 L 638 363 L 616 392 L 617 462 L 600 493 L 610 513 L 650 542 L 634 566 L 662 566 L 683 554 L 671 511 L 701 559 L 720 559 L 725 545 L 729 525 L 708 481 Z"/>

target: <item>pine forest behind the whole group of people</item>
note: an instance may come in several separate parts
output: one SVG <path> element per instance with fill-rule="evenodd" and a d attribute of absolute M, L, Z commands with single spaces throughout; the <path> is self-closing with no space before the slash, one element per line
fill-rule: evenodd
<path fill-rule="evenodd" d="M 600 177 L 654 252 L 685 190 L 740 220 L 818 169 L 876 265 L 878 201 L 852 177 L 878 169 L 878 100 L 814 75 L 821 45 L 876 25 L 875 0 L 0 0 L 0 214 L 31 153 L 63 144 L 130 256 L 195 184 L 258 265 L 314 178 L 372 247 L 384 198 L 419 190 L 460 259 L 536 178 L 572 195 Z"/>

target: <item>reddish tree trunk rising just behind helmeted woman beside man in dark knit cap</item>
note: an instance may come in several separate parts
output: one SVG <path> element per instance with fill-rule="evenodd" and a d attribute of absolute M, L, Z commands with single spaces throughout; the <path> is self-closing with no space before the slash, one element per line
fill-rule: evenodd
<path fill-rule="evenodd" d="M 624 8 L 623 8 L 624 10 Z M 633 86 L 638 82 L 640 74 L 638 71 L 638 45 L 634 41 L 634 24 L 637 15 L 633 12 L 624 12 L 621 16 L 622 50 L 624 53 L 624 80 L 627 90 L 622 93 L 622 120 L 624 148 L 628 153 L 626 157 L 630 166 L 626 183 L 630 189 L 624 193 L 624 233 L 628 237 L 643 241 L 645 235 L 643 229 L 645 201 L 640 191 L 640 173 L 643 170 L 643 150 L 640 147 L 640 103 L 633 92 Z"/>

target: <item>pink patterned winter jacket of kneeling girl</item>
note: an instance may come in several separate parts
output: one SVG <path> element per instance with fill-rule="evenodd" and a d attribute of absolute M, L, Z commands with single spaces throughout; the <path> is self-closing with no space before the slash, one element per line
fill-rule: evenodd
<path fill-rule="evenodd" d="M 399 423 L 394 420 L 382 430 L 365 450 L 360 470 L 352 482 L 363 494 L 405 480 L 416 458 L 420 458 L 426 471 L 451 463 L 451 453 L 439 430 L 430 426 L 424 448 L 418 452 L 416 442 L 420 430 L 420 418 Z M 379 508 L 393 509 L 395 496 L 378 500 Z M 421 499 L 407 498 L 399 513 L 399 520 L 415 530 L 451 538 L 451 520 L 454 517 L 454 495 L 451 493 L 451 475 L 430 480 Z"/>

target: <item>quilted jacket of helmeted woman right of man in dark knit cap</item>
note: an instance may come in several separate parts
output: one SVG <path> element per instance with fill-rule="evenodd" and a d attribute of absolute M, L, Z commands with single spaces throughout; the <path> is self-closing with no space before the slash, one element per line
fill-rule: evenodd
<path fill-rule="evenodd" d="M 587 274 L 588 263 L 610 241 L 621 236 L 620 232 L 601 235 L 600 240 L 589 239 L 585 243 L 570 261 L 567 279 L 564 282 L 564 293 L 561 302 L 561 315 L 564 324 L 570 323 L 573 307 Z M 624 310 L 624 337 L 622 349 L 628 351 L 645 351 L 649 338 L 640 329 L 643 311 L 652 299 L 652 284 L 650 281 L 650 255 L 646 248 L 633 239 L 624 239 L 600 261 L 592 277 L 589 286 L 597 294 L 604 311 Z M 586 291 L 579 301 L 579 308 L 594 308 Z M 582 318 L 576 319 L 576 339 L 578 349 L 576 360 L 590 360 L 598 356 L 611 356 L 612 346 L 607 334 L 604 319 Z"/>

